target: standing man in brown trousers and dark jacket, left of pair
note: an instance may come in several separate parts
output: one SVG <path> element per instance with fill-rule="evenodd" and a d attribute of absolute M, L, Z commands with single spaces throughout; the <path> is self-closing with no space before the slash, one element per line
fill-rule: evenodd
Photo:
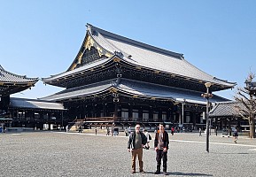
<path fill-rule="evenodd" d="M 128 138 L 128 152 L 132 152 L 132 173 L 136 173 L 136 156 L 138 156 L 140 173 L 144 173 L 143 147 L 147 143 L 147 137 L 140 131 L 140 125 L 137 124 L 135 132 L 132 132 Z"/>

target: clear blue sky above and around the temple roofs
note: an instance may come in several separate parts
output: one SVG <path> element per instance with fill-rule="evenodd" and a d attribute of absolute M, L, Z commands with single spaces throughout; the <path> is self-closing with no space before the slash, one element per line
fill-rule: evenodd
<path fill-rule="evenodd" d="M 244 87 L 248 73 L 256 73 L 255 7 L 254 0 L 0 0 L 0 65 L 28 78 L 65 72 L 89 23 L 182 53 L 202 71 Z M 38 81 L 12 96 L 60 90 Z M 233 99 L 236 90 L 214 94 Z"/>

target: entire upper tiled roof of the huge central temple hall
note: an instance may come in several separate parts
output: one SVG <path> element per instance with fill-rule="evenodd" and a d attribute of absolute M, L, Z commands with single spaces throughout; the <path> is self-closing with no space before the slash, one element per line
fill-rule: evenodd
<path fill-rule="evenodd" d="M 196 80 L 202 84 L 210 81 L 213 84 L 218 85 L 218 90 L 233 88 L 237 84 L 236 82 L 218 79 L 201 71 L 196 66 L 191 65 L 180 53 L 159 49 L 143 42 L 136 42 L 135 40 L 112 34 L 89 24 L 87 27 L 88 30 L 86 37 L 90 36 L 93 41 L 97 43 L 97 46 L 108 51 L 112 55 L 118 55 L 123 62 L 126 62 L 129 65 L 141 66 L 145 69 L 179 76 L 189 80 Z M 86 37 L 81 49 L 85 47 L 83 45 L 86 42 Z M 79 51 L 79 55 L 74 59 L 74 63 L 77 62 L 78 56 L 81 56 L 81 50 Z M 59 73 L 57 75 L 50 76 L 49 78 L 43 78 L 43 81 L 48 82 L 73 73 L 86 71 L 97 65 L 103 65 L 110 61 L 110 59 L 111 58 L 100 59 L 93 63 L 75 68 L 74 70 L 70 69 L 74 65 L 73 63 L 67 72 Z"/>

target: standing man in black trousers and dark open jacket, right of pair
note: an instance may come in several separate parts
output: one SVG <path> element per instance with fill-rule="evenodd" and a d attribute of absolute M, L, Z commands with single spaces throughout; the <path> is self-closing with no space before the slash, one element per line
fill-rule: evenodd
<path fill-rule="evenodd" d="M 161 159 L 163 158 L 163 172 L 167 175 L 167 150 L 169 145 L 169 137 L 163 124 L 159 124 L 159 131 L 155 135 L 155 150 L 157 152 L 157 171 L 155 174 L 160 173 Z"/>

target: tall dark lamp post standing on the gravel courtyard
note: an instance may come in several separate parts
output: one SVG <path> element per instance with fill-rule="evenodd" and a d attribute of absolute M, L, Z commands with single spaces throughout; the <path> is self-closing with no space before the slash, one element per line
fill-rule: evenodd
<path fill-rule="evenodd" d="M 206 93 L 202 94 L 201 96 L 206 98 L 206 151 L 209 152 L 209 98 L 213 97 L 213 94 L 209 93 L 209 89 L 211 87 L 211 82 L 206 82 Z"/>

